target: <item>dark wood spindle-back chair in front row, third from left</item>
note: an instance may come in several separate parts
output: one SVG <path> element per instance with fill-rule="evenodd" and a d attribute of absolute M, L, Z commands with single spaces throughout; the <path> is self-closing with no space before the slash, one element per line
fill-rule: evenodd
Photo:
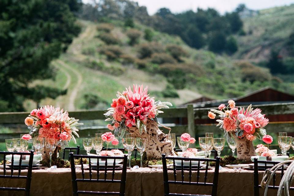
<path fill-rule="evenodd" d="M 166 164 L 166 160 L 172 160 L 173 166 L 169 170 L 173 170 L 173 180 L 168 179 L 168 168 Z M 181 165 L 176 166 L 175 160 L 180 160 Z M 189 166 L 184 166 L 183 161 L 190 161 Z M 191 161 L 198 161 L 198 166 L 196 168 L 192 167 Z M 199 182 L 200 178 L 200 161 L 206 162 L 205 167 L 205 174 L 204 174 L 204 182 Z M 207 174 L 208 174 L 208 161 L 209 162 L 215 162 L 215 169 L 214 169 L 214 176 L 213 176 L 213 183 L 206 182 L 207 180 Z M 217 195 L 217 183 L 218 183 L 218 174 L 219 174 L 219 166 L 220 166 L 220 157 L 217 157 L 216 159 L 198 159 L 198 158 L 183 158 L 183 157 L 175 157 L 175 156 L 165 156 L 165 154 L 162 155 L 162 165 L 163 165 L 163 181 L 164 181 L 164 196 L 174 196 L 174 195 L 182 195 L 182 196 L 205 196 L 200 194 L 177 194 L 177 193 L 170 193 L 169 191 L 169 184 L 180 184 L 180 185 L 191 185 L 191 186 L 211 186 L 211 196 Z M 184 170 L 189 171 L 189 181 L 184 181 Z M 179 180 L 177 180 L 177 171 L 181 171 L 181 176 Z M 192 171 L 197 171 L 197 181 L 192 182 Z M 206 195 L 208 196 L 208 195 Z"/>

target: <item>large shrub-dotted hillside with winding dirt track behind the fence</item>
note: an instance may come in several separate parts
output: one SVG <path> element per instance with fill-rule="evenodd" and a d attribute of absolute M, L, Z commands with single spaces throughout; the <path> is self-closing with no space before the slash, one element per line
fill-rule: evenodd
<path fill-rule="evenodd" d="M 265 86 L 283 88 L 267 69 L 190 48 L 177 36 L 138 23 L 134 29 L 120 21 L 79 24 L 81 34 L 65 54 L 52 62 L 55 80 L 32 84 L 42 83 L 68 92 L 55 100 L 42 100 L 40 105 L 52 104 L 69 111 L 107 108 L 118 90 L 133 83 L 148 85 L 151 96 L 174 105 L 202 95 L 219 99 L 241 96 Z M 153 35 L 149 41 L 145 37 L 147 28 Z M 130 42 L 130 34 L 139 35 L 135 43 Z M 25 106 L 30 110 L 36 104 L 27 101 Z"/>

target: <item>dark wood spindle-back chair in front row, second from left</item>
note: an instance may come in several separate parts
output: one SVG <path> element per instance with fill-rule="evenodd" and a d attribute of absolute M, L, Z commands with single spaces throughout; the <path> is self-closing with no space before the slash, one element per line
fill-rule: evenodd
<path fill-rule="evenodd" d="M 85 178 L 85 172 L 84 172 L 84 164 L 82 161 L 82 158 L 89 159 L 89 178 Z M 76 176 L 76 169 L 74 165 L 74 159 L 80 159 L 81 163 L 81 171 L 82 171 L 82 179 L 77 179 Z M 105 166 L 104 168 L 99 167 L 99 159 L 105 159 Z M 107 164 L 108 159 L 114 159 L 113 164 Z M 122 169 L 122 175 L 121 179 L 115 180 L 115 162 L 118 162 L 118 159 L 123 159 L 123 168 L 119 168 L 119 170 Z M 125 185 L 126 185 L 126 165 L 127 165 L 127 155 L 124 156 L 88 156 L 88 155 L 74 155 L 74 153 L 70 153 L 70 165 L 71 165 L 71 177 L 72 177 L 72 186 L 73 186 L 73 194 L 74 196 L 78 196 L 79 194 L 95 194 L 95 195 L 119 195 L 124 196 L 125 195 Z M 97 175 L 93 178 L 92 173 L 92 166 L 91 160 L 97 160 Z M 111 179 L 107 179 L 107 171 L 112 171 Z M 104 175 L 103 175 L 104 174 Z M 109 174 L 109 173 L 108 173 Z M 103 177 L 100 178 L 100 175 Z M 110 175 L 110 174 L 109 174 Z M 120 189 L 119 192 L 101 192 L 101 191 L 81 191 L 77 188 L 77 182 L 86 182 L 86 183 L 119 183 Z"/>

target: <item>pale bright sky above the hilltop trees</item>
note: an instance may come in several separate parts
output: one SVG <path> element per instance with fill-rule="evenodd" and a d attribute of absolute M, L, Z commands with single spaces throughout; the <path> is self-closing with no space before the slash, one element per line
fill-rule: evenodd
<path fill-rule="evenodd" d="M 284 6 L 294 3 L 294 0 L 136 0 L 140 6 L 146 6 L 149 15 L 153 15 L 162 7 L 166 7 L 173 13 L 180 13 L 186 10 L 197 8 L 214 8 L 221 14 L 231 12 L 244 3 L 248 8 L 258 10 L 274 6 Z"/>

